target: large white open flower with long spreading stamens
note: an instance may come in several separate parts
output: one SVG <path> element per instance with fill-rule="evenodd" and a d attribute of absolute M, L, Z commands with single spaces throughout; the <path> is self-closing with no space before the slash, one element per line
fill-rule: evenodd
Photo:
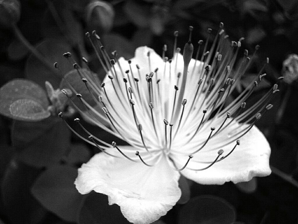
<path fill-rule="evenodd" d="M 78 169 L 75 185 L 81 194 L 92 190 L 106 194 L 109 204 L 119 205 L 128 221 L 147 224 L 179 200 L 180 175 L 200 184 L 224 184 L 271 173 L 269 144 L 254 124 L 272 108 L 268 103 L 278 91 L 277 84 L 246 107 L 246 99 L 265 76 L 260 71 L 229 101 L 250 62 L 245 50 L 235 66 L 242 39 L 231 45 L 222 28 L 221 24 L 210 50 L 204 47 L 200 61 L 192 59 L 190 40 L 183 56 L 174 48 L 172 60 L 164 56 L 166 46 L 162 57 L 149 47 L 139 47 L 128 61 L 117 59 L 115 53 L 109 61 L 102 47 L 107 75 L 100 86 L 75 64 L 97 103 L 91 106 L 77 93 L 86 107 L 86 111 L 78 108 L 80 112 L 129 144 L 104 142 L 75 119 L 89 135 L 85 140 L 102 151 Z M 202 41 L 198 43 L 203 48 Z"/>

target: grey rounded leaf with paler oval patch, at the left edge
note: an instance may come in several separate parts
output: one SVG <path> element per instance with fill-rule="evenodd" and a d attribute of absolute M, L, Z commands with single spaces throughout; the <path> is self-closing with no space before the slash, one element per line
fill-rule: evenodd
<path fill-rule="evenodd" d="M 0 113 L 21 121 L 39 121 L 49 117 L 45 91 L 34 82 L 14 79 L 0 89 Z"/>

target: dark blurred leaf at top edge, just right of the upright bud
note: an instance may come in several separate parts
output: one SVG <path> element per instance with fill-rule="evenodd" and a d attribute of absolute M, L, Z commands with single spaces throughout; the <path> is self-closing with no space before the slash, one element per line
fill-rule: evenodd
<path fill-rule="evenodd" d="M 150 6 L 140 1 L 128 0 L 123 7 L 126 16 L 139 28 L 150 26 Z"/>

